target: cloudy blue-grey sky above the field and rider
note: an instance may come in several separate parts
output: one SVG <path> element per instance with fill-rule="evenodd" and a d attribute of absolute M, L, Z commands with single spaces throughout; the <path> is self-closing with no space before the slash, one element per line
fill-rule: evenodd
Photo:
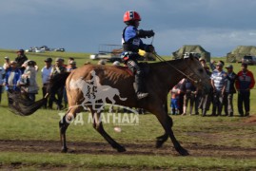
<path fill-rule="evenodd" d="M 256 46 L 255 0 L 0 0 L 0 48 L 94 53 L 100 44 L 121 44 L 126 10 L 140 13 L 140 28 L 155 31 L 160 55 L 183 45 L 218 57 Z"/>

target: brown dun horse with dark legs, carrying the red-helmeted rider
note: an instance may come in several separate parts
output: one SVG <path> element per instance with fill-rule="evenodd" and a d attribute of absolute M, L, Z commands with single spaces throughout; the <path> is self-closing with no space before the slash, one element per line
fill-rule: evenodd
<path fill-rule="evenodd" d="M 101 107 L 101 104 L 92 105 L 92 103 L 96 101 L 112 103 L 110 101 L 113 100 L 115 104 L 144 108 L 154 114 L 165 130 L 165 134 L 157 138 L 156 146 L 161 147 L 169 137 L 179 154 L 188 155 L 187 150 L 176 140 L 171 129 L 173 124 L 172 120 L 165 109 L 168 91 L 185 77 L 190 79 L 192 83 L 200 89 L 208 91 L 210 85 L 207 73 L 200 65 L 199 61 L 192 57 L 148 64 L 145 85 L 149 96 L 142 100 L 136 99 L 133 88 L 134 77 L 125 69 L 120 69 L 116 66 L 85 65 L 73 70 L 69 75 L 59 77 L 58 80 L 53 79 L 51 81 L 51 90 L 66 81 L 69 99 L 69 110 L 59 123 L 62 151 L 68 151 L 66 131 L 69 126 L 69 121 L 74 119 L 76 114 L 83 109 L 81 104 L 89 108 L 93 118 L 94 129 L 96 129 L 113 148 L 117 149 L 118 152 L 126 151 L 124 146 L 115 142 L 105 131 L 103 123 L 100 120 L 101 111 L 99 107 Z M 111 92 L 114 90 L 116 93 L 114 97 L 111 97 L 112 99 L 109 100 L 108 96 L 104 96 L 106 99 L 99 100 L 98 97 L 106 95 L 108 90 Z M 95 98 L 96 96 L 97 98 Z M 95 101 L 89 101 L 89 98 L 95 99 Z M 27 105 L 27 109 L 29 109 L 28 107 Z M 38 108 L 38 106 L 33 107 Z M 22 107 L 18 110 L 21 112 Z"/>

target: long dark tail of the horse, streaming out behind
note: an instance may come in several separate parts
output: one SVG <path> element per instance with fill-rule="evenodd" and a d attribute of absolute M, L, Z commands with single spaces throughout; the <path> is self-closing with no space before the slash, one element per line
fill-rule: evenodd
<path fill-rule="evenodd" d="M 39 109 L 43 104 L 47 103 L 47 99 L 50 94 L 56 92 L 57 89 L 63 88 L 66 80 L 69 76 L 69 72 L 57 74 L 49 80 L 48 94 L 41 100 L 36 102 L 30 102 L 28 97 L 24 97 L 21 93 L 9 93 L 9 107 L 10 111 L 21 115 L 29 116 Z"/>

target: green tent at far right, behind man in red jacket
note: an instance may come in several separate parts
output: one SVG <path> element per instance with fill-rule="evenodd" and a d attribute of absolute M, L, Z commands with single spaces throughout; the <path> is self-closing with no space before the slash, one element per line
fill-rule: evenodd
<path fill-rule="evenodd" d="M 231 52 L 226 53 L 226 62 L 228 63 L 240 63 L 245 55 L 256 56 L 255 46 L 238 46 Z"/>

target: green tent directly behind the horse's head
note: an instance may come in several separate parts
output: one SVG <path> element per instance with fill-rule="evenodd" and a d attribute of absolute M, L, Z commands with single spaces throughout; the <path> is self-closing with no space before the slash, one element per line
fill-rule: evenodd
<path fill-rule="evenodd" d="M 210 53 L 205 50 L 205 48 L 200 45 L 185 45 L 178 50 L 172 52 L 173 59 L 182 58 L 186 52 L 196 52 L 199 53 L 202 58 L 205 58 L 207 62 L 210 61 Z"/>

